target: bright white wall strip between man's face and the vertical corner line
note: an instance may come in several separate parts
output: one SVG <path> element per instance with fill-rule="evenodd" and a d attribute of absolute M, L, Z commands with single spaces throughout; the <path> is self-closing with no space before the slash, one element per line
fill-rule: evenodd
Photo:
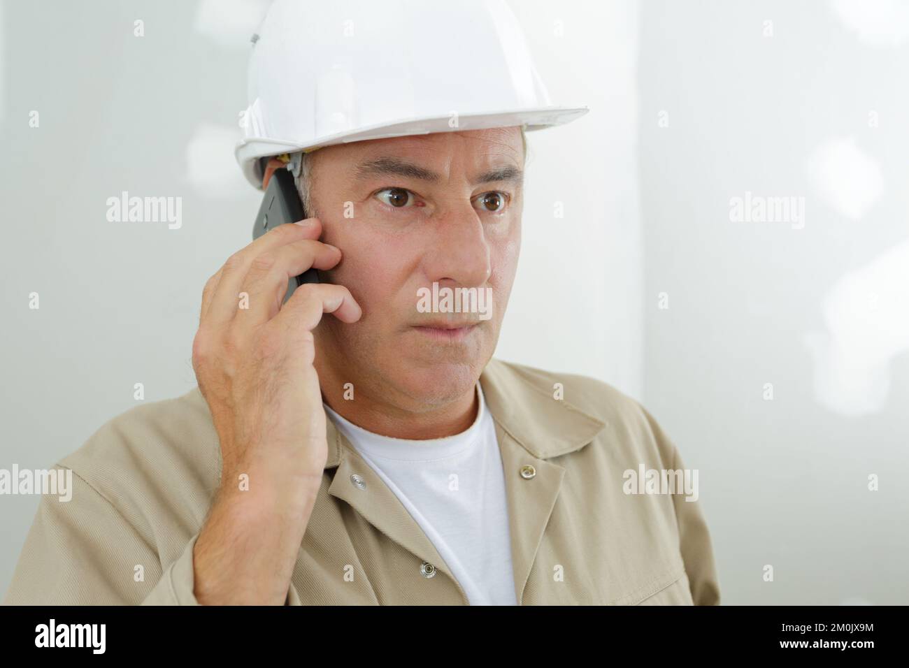
<path fill-rule="evenodd" d="M 496 355 L 593 375 L 640 397 L 637 3 L 512 6 L 554 102 L 574 98 L 591 111 L 527 135 L 521 264 Z"/>

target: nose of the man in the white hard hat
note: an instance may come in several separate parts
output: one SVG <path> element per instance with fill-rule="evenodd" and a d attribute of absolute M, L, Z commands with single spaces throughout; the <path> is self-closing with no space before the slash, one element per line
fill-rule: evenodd
<path fill-rule="evenodd" d="M 430 282 L 478 287 L 492 274 L 484 225 L 470 203 L 440 214 L 429 245 L 424 270 Z"/>

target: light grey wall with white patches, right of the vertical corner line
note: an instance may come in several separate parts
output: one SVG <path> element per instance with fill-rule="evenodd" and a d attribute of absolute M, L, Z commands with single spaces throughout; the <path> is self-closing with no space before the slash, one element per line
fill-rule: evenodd
<path fill-rule="evenodd" d="M 644 404 L 724 601 L 909 603 L 909 5 L 642 10 Z M 746 192 L 804 227 L 734 222 Z"/>

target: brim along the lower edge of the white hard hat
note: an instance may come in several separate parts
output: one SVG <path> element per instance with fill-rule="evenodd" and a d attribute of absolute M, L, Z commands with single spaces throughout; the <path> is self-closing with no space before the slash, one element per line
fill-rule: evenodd
<path fill-rule="evenodd" d="M 387 139 L 391 137 L 429 135 L 438 132 L 464 132 L 465 130 L 485 130 L 493 127 L 511 127 L 523 125 L 524 130 L 531 132 L 554 125 L 565 125 L 590 111 L 587 106 L 543 106 L 520 111 L 507 110 L 500 112 L 479 112 L 456 116 L 456 125 L 452 125 L 454 115 L 446 114 L 434 117 L 407 118 L 389 123 L 380 123 L 369 127 L 345 130 L 331 135 L 318 137 L 308 143 L 287 139 L 269 139 L 265 137 L 248 137 L 235 147 L 237 162 L 242 165 L 246 179 L 256 188 L 262 189 L 262 171 L 259 158 L 310 151 L 324 146 L 365 142 L 370 139 Z"/>

